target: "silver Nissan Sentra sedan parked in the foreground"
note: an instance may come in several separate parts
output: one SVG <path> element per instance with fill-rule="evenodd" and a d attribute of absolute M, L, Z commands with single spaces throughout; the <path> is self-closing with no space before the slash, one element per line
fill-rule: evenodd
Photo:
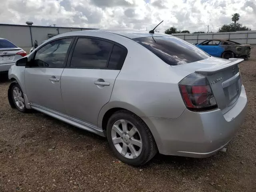
<path fill-rule="evenodd" d="M 222 149 L 246 116 L 238 64 L 161 33 L 60 34 L 9 70 L 10 105 L 105 136 L 139 166 L 159 152 L 202 158 Z"/>

